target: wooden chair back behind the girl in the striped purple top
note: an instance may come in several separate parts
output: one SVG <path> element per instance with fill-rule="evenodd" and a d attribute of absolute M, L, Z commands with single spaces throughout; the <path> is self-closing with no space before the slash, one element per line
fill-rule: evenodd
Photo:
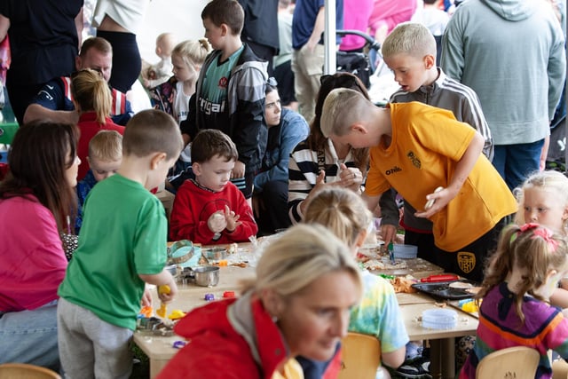
<path fill-rule="evenodd" d="M 493 351 L 477 365 L 476 379 L 534 379 L 539 360 L 539 351 L 526 346 Z"/>

